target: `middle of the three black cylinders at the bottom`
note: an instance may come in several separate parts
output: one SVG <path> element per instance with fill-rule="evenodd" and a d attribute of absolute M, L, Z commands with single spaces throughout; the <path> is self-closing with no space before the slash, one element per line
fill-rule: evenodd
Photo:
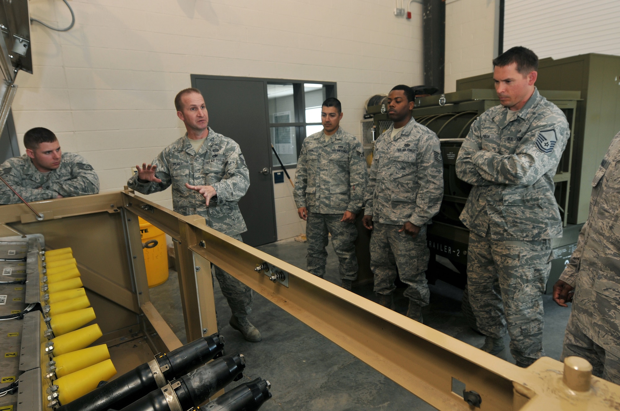
<path fill-rule="evenodd" d="M 156 389 L 121 411 L 183 411 L 198 407 L 232 381 L 242 378 L 246 368 L 243 355 L 218 358 L 184 376 L 173 379 L 167 386 Z M 171 406 L 171 404 L 174 404 Z"/>

